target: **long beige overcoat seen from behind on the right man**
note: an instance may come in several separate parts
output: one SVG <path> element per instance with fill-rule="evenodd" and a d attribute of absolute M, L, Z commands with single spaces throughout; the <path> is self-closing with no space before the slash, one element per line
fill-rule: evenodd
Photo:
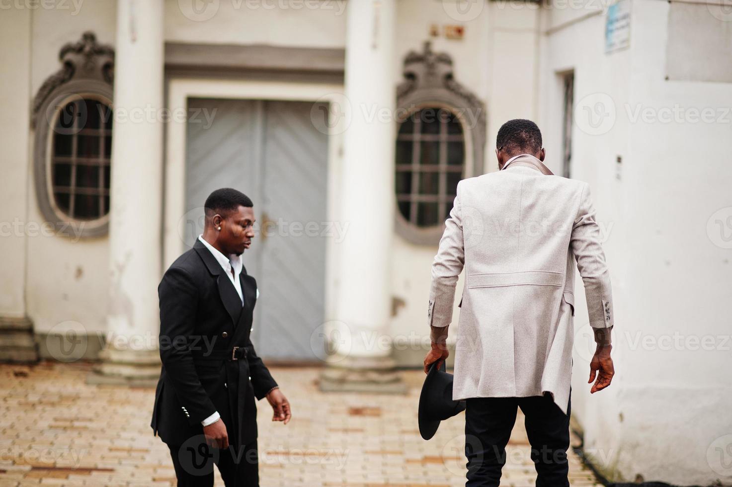
<path fill-rule="evenodd" d="M 613 326 L 610 274 L 589 185 L 522 155 L 463 179 L 432 266 L 428 324 L 452 321 L 466 272 L 453 398 L 553 395 L 567 412 L 575 260 L 591 327 Z"/>

